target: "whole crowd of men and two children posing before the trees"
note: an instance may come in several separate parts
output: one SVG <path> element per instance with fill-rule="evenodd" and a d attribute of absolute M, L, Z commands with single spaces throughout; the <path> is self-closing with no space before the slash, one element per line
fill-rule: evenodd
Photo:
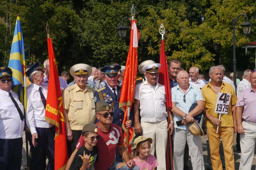
<path fill-rule="evenodd" d="M 144 76 L 137 79 L 130 120 L 125 124 L 126 128 L 134 125 L 137 134 L 132 155 L 124 146 L 124 112 L 119 109 L 125 66 L 112 63 L 97 69 L 80 63 L 72 66 L 69 73 L 63 72 L 59 82 L 69 155 L 65 169 L 166 170 L 168 131 L 173 139 L 171 164 L 175 170 L 188 169 L 189 153 L 193 169 L 205 169 L 201 137 L 204 134 L 208 137 L 207 169 L 234 170 L 236 132 L 237 147 L 241 148 L 239 169 L 251 169 L 256 139 L 256 69 L 246 69 L 235 89 L 222 65 L 210 68 L 208 82 L 197 67 L 187 72 L 181 64 L 177 59 L 168 64 L 170 111 L 166 109 L 165 86 L 158 83 L 161 64 L 147 60 L 139 65 Z M 25 133 L 31 169 L 54 169 L 55 128 L 45 120 L 50 96 L 49 68 L 49 60 L 44 62 L 43 69 L 39 62 L 28 65 L 26 114 L 18 95 L 11 90 L 11 68 L 0 68 L 1 170 L 18 170 L 21 165 L 27 168 Z M 69 74 L 74 81 L 67 84 Z"/>

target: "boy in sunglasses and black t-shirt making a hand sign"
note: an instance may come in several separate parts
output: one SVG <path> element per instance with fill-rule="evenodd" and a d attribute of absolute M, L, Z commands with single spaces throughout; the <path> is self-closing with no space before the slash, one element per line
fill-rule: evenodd
<path fill-rule="evenodd" d="M 70 170 L 94 170 L 98 153 L 96 143 L 100 137 L 97 135 L 97 126 L 92 123 L 86 124 L 82 129 L 82 136 L 85 145 L 78 149 Z"/>

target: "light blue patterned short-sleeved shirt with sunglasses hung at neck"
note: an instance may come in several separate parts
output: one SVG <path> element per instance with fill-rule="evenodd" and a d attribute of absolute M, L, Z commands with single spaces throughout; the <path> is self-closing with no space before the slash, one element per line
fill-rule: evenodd
<path fill-rule="evenodd" d="M 171 92 L 172 92 L 172 102 L 175 102 L 176 107 L 178 107 L 182 112 L 185 112 L 187 114 L 193 103 L 196 103 L 198 100 L 203 101 L 203 95 L 201 90 L 198 87 L 195 87 L 192 85 L 188 87 L 186 95 L 180 89 L 179 85 L 177 85 L 176 87 L 172 87 Z M 186 100 L 186 102 L 184 102 L 184 99 Z M 174 128 L 183 129 L 183 130 L 189 129 L 190 124 L 177 126 L 176 121 L 182 120 L 183 119 L 182 117 L 179 117 L 176 114 L 173 114 L 173 118 L 174 118 Z"/>

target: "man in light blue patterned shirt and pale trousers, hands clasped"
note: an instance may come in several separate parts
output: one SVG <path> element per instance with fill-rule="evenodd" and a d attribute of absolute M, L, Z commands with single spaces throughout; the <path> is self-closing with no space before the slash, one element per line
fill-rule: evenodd
<path fill-rule="evenodd" d="M 189 131 L 194 121 L 194 116 L 204 109 L 201 90 L 189 84 L 189 75 L 185 70 L 177 73 L 178 85 L 172 91 L 172 113 L 174 117 L 174 169 L 183 169 L 183 157 L 186 141 L 191 153 L 193 169 L 204 169 L 203 149 L 201 136 L 195 136 Z M 197 106 L 189 112 L 193 103 Z M 179 123 L 180 122 L 180 123 Z"/>

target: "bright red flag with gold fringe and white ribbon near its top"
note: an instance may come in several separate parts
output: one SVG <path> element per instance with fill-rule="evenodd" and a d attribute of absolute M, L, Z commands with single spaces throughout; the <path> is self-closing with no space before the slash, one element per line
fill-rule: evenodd
<path fill-rule="evenodd" d="M 128 106 L 132 108 L 132 102 L 134 97 L 134 90 L 136 86 L 137 79 L 137 67 L 138 67 L 138 41 L 139 41 L 139 31 L 136 26 L 137 21 L 132 20 L 131 31 L 130 31 L 130 47 L 126 60 L 126 69 L 124 72 L 123 84 L 121 95 L 119 99 L 119 108 L 124 112 L 124 120 L 122 124 L 122 129 L 124 130 L 124 145 L 126 145 L 126 126 L 128 115 Z M 132 127 L 129 128 L 129 147 L 128 152 L 132 153 L 132 140 L 135 137 Z"/>

